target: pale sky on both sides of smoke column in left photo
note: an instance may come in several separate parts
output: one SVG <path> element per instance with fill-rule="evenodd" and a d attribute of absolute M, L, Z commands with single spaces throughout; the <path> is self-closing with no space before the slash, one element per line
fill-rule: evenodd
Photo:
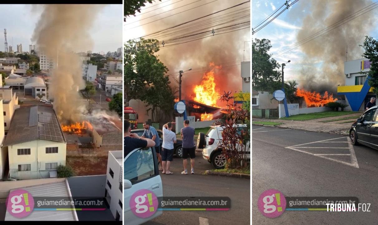
<path fill-rule="evenodd" d="M 22 44 L 23 51 L 29 51 L 31 36 L 39 20 L 39 13 L 32 12 L 31 5 L 2 5 L 0 13 L 0 51 L 4 51 L 4 28 L 7 30 L 8 46 L 17 50 Z M 122 47 L 122 5 L 104 5 L 91 28 L 91 39 L 94 42 L 93 52 L 117 51 Z M 13 37 L 13 44 L 12 44 Z M 34 44 L 34 43 L 33 43 Z"/>

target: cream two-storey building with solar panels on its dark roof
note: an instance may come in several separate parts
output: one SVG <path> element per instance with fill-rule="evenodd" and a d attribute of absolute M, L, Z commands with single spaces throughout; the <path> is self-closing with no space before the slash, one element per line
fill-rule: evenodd
<path fill-rule="evenodd" d="M 66 140 L 51 106 L 17 109 L 4 147 L 12 179 L 57 177 L 57 166 L 66 164 Z"/>

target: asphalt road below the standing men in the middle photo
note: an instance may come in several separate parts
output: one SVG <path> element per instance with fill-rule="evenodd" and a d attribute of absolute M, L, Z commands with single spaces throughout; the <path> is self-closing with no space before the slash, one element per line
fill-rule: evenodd
<path fill-rule="evenodd" d="M 182 175 L 182 160 L 174 157 L 171 168 L 174 174 L 161 174 L 164 196 L 226 196 L 231 199 L 231 210 L 163 211 L 162 216 L 144 225 L 250 224 L 250 180 L 201 174 L 214 168 L 201 153 L 196 153 L 196 160 L 196 174 Z"/>

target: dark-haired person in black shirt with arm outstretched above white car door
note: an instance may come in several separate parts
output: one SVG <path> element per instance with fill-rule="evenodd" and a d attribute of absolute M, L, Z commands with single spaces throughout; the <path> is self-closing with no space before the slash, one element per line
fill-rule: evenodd
<path fill-rule="evenodd" d="M 136 148 L 153 147 L 155 142 L 148 138 L 139 137 L 138 134 L 131 133 L 131 124 L 129 121 L 124 121 L 124 157 Z"/>

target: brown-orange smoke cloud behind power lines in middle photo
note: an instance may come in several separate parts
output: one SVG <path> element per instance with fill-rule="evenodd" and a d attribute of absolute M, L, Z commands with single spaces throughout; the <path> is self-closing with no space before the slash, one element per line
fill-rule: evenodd
<path fill-rule="evenodd" d="M 203 15 L 208 15 L 212 12 L 216 12 L 232 5 L 237 5 L 242 3 L 242 0 L 238 1 L 218 1 L 217 3 L 211 3 L 209 5 L 201 6 L 186 12 L 174 15 L 172 17 L 165 18 L 159 22 L 150 23 L 144 25 L 143 29 L 146 34 L 153 33 L 154 31 L 169 28 L 171 26 L 177 25 L 178 23 L 183 23 L 194 18 L 201 17 Z M 182 5 L 187 4 L 187 2 L 182 3 Z M 199 4 L 199 3 L 198 3 Z M 197 5 L 198 5 L 197 4 Z M 197 5 L 186 6 L 189 9 Z M 181 5 L 172 6 L 176 8 Z M 220 14 L 225 14 L 228 12 L 235 11 L 237 9 L 247 8 L 249 3 L 243 4 L 233 9 L 229 9 L 218 14 L 214 14 L 208 18 L 214 18 Z M 183 11 L 183 9 L 181 9 Z M 142 11 L 143 12 L 143 11 Z M 160 11 L 159 11 L 160 12 Z M 176 11 L 175 11 L 176 12 Z M 179 11 L 177 11 L 179 12 Z M 157 12 L 156 12 L 157 13 Z M 172 13 L 171 13 L 172 14 Z M 152 14 L 145 14 L 141 18 L 146 18 Z M 170 15 L 169 13 L 164 14 L 164 16 Z M 141 24 L 146 23 L 149 20 L 143 20 Z M 245 21 L 243 19 L 242 21 Z M 248 19 L 247 19 L 248 20 Z M 240 22 L 241 20 L 239 20 Z M 234 22 L 235 23 L 235 22 Z M 157 28 L 158 27 L 158 28 Z M 215 29 L 215 28 L 214 28 Z M 191 29 L 183 31 L 182 35 L 188 35 L 191 33 Z M 177 34 L 176 34 L 177 35 Z M 170 37 L 168 37 L 170 38 Z M 164 39 L 159 39 L 162 42 Z M 161 47 L 158 52 L 161 62 L 164 63 L 169 69 L 167 74 L 175 73 L 174 76 L 178 80 L 178 71 L 186 71 L 192 68 L 192 71 L 184 72 L 182 77 L 182 99 L 189 100 L 193 99 L 194 86 L 200 85 L 203 74 L 205 72 L 211 71 L 209 63 L 214 62 L 215 65 L 222 64 L 224 62 L 235 62 L 237 60 L 243 60 L 243 45 L 245 41 L 250 40 L 249 28 L 242 29 L 240 31 L 229 32 L 227 34 L 215 35 L 212 37 L 206 37 L 204 39 L 196 40 L 193 42 L 183 43 L 179 45 Z M 245 61 L 249 61 L 249 51 L 250 42 L 245 43 Z M 217 84 L 216 88 L 219 94 L 223 91 L 240 91 L 242 89 L 242 79 L 240 78 L 240 61 L 235 63 L 229 63 L 222 65 L 222 69 L 215 69 L 215 82 Z M 237 64 L 237 65 L 236 65 Z M 235 65 L 235 66 L 230 66 Z M 195 69 L 195 68 L 205 68 L 207 69 Z M 177 73 L 176 73 L 177 72 Z M 170 76 L 171 86 L 178 91 L 178 83 Z M 178 96 L 178 92 L 176 94 Z M 218 101 L 218 105 L 224 106 L 225 103 Z"/>

